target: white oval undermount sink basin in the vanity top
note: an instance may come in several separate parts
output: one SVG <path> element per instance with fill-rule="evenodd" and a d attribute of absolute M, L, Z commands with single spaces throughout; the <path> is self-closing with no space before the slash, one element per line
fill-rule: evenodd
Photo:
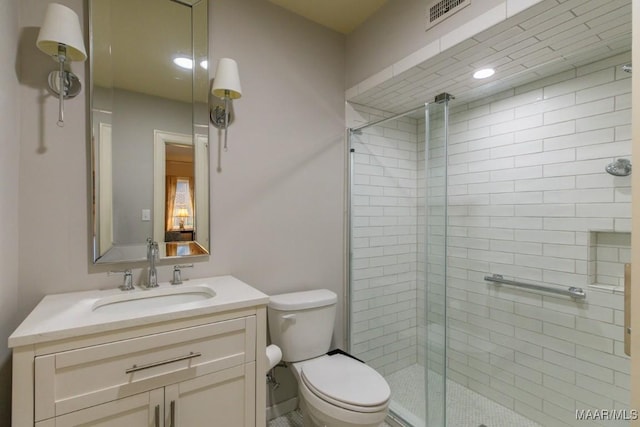
<path fill-rule="evenodd" d="M 93 304 L 91 310 L 99 313 L 139 312 L 146 309 L 205 301 L 215 296 L 215 291 L 207 286 L 149 289 L 100 298 Z"/>

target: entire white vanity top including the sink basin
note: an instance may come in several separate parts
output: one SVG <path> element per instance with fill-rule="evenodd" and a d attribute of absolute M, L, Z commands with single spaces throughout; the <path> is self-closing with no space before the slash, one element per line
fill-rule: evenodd
<path fill-rule="evenodd" d="M 123 292 L 114 286 L 46 295 L 11 334 L 9 346 L 31 346 L 194 317 L 218 319 L 219 313 L 257 306 L 266 310 L 268 302 L 267 295 L 228 275 L 194 278 L 182 285 L 161 282 L 153 289 Z"/>

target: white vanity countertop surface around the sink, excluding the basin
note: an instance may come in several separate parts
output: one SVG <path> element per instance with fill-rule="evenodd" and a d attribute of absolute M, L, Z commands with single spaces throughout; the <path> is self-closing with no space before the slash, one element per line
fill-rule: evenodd
<path fill-rule="evenodd" d="M 168 291 L 179 287 L 205 286 L 215 292 L 210 299 L 145 308 L 136 312 L 123 310 L 94 311 L 93 307 L 105 297 L 141 296 L 140 292 Z M 120 289 L 94 290 L 47 295 L 9 337 L 9 347 L 19 347 L 78 337 L 98 332 L 113 331 L 132 326 L 143 326 L 167 320 L 183 319 L 223 311 L 266 305 L 269 297 L 232 276 L 191 279 L 182 285 L 160 283 L 158 288 L 133 291 Z"/>

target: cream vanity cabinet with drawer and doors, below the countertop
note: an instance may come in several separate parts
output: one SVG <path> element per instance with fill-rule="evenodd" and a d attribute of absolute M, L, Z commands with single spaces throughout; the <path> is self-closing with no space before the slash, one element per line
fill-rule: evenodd
<path fill-rule="evenodd" d="M 13 346 L 13 427 L 264 426 L 264 297 Z"/>

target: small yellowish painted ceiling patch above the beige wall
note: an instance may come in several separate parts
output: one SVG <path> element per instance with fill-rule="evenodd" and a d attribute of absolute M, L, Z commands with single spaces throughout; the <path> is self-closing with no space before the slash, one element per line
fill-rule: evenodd
<path fill-rule="evenodd" d="M 387 0 L 269 0 L 310 21 L 349 34 Z"/>

